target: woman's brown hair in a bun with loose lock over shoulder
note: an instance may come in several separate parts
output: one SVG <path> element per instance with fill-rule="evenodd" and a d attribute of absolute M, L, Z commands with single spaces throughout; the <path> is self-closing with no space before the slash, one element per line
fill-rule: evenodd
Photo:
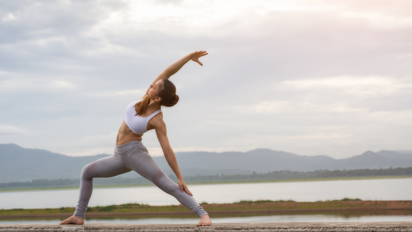
<path fill-rule="evenodd" d="M 158 87 L 157 96 L 160 97 L 160 106 L 173 107 L 178 103 L 179 96 L 176 95 L 176 86 L 170 80 L 163 79 L 162 85 Z M 150 103 L 150 97 L 146 96 L 141 102 L 134 105 L 136 115 L 144 114 L 147 110 L 147 106 Z"/>

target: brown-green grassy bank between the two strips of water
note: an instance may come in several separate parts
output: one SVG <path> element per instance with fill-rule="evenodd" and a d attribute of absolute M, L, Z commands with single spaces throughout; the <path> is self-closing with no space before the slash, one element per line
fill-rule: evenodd
<path fill-rule="evenodd" d="M 400 211 L 412 214 L 412 201 L 361 201 L 360 199 L 342 199 L 339 201 L 295 202 L 295 201 L 241 201 L 233 204 L 207 204 L 201 206 L 211 215 L 258 215 L 262 213 L 313 213 L 313 212 L 386 212 Z M 2 209 L 0 219 L 5 218 L 64 218 L 73 215 L 75 208 L 45 209 Z M 112 206 L 88 207 L 87 217 L 124 217 L 124 216 L 159 216 L 192 215 L 193 212 L 182 205 L 149 206 L 141 204 L 123 204 Z"/>

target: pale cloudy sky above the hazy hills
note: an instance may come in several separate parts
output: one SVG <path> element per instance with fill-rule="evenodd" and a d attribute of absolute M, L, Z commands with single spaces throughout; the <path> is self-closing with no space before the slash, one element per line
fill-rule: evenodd
<path fill-rule="evenodd" d="M 126 106 L 198 50 L 163 109 L 175 152 L 412 150 L 410 0 L 0 0 L 0 143 L 113 154 Z"/>

